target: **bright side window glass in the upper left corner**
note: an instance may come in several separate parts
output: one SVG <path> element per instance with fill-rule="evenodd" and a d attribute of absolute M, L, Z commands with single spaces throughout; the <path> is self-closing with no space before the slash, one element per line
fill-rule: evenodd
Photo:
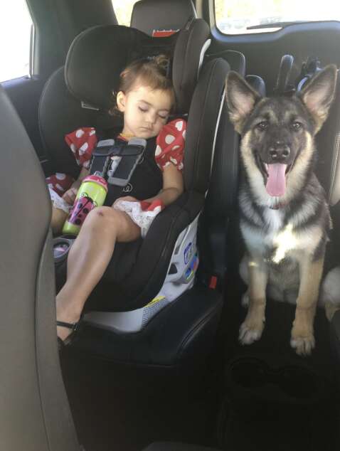
<path fill-rule="evenodd" d="M 31 26 L 26 1 L 6 1 L 0 16 L 0 82 L 29 75 Z"/>

